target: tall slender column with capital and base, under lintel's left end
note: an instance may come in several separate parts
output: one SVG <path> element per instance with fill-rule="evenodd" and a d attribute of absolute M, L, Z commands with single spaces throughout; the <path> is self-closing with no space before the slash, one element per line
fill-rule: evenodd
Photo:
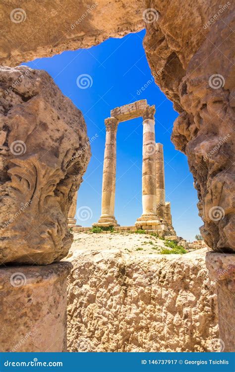
<path fill-rule="evenodd" d="M 119 226 L 114 216 L 118 121 L 116 118 L 107 118 L 105 119 L 105 125 L 106 141 L 102 184 L 102 212 L 98 223 L 93 226 Z"/>

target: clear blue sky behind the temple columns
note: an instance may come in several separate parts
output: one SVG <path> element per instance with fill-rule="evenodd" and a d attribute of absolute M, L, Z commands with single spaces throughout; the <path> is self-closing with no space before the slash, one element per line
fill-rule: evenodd
<path fill-rule="evenodd" d="M 105 118 L 121 105 L 147 99 L 156 106 L 156 142 L 164 145 L 166 200 L 171 201 L 173 225 L 178 236 L 194 240 L 202 225 L 196 207 L 197 194 L 185 155 L 175 150 L 171 132 L 177 113 L 154 82 L 137 94 L 152 79 L 142 41 L 145 31 L 122 39 L 109 39 L 90 49 L 63 52 L 52 58 L 23 63 L 44 69 L 54 78 L 62 93 L 82 111 L 91 143 L 92 157 L 78 191 L 77 209 L 87 206 L 92 216 L 77 224 L 91 226 L 101 214 Z M 87 89 L 77 86 L 77 77 L 89 74 Z M 117 130 L 117 184 L 115 216 L 120 225 L 134 225 L 142 213 L 142 120 L 120 123 Z"/>

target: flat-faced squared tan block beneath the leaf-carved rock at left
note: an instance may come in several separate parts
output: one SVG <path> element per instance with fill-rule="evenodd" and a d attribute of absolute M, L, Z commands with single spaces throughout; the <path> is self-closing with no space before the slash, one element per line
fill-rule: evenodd
<path fill-rule="evenodd" d="M 0 268 L 0 352 L 66 351 L 68 262 Z"/>

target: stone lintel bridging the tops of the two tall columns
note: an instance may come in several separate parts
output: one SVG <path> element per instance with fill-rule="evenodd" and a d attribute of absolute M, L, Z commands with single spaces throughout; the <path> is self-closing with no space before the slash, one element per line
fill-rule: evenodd
<path fill-rule="evenodd" d="M 116 107 L 111 110 L 110 114 L 111 117 L 117 118 L 118 122 L 125 122 L 126 120 L 142 117 L 147 106 L 147 100 L 140 100 Z"/>

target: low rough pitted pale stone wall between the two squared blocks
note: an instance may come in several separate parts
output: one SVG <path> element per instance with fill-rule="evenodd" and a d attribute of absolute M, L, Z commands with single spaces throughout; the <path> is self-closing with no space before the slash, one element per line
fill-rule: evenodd
<path fill-rule="evenodd" d="M 108 247 L 69 252 L 68 351 L 219 351 L 205 249 L 132 255 Z"/>

